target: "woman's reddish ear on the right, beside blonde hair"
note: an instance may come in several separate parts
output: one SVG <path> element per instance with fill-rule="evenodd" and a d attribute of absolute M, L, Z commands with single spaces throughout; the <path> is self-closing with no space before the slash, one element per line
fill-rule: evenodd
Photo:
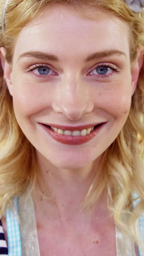
<path fill-rule="evenodd" d="M 131 66 L 131 88 L 132 88 L 132 95 L 135 92 L 137 82 L 139 79 L 140 70 L 143 64 L 143 55 L 144 51 L 141 49 L 137 49 L 137 58 L 136 61 Z"/>

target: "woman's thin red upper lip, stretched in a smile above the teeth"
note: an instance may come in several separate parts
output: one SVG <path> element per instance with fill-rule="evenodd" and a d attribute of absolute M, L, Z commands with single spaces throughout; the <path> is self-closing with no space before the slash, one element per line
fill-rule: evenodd
<path fill-rule="evenodd" d="M 99 124 L 104 124 L 106 123 L 106 121 L 104 122 L 99 122 L 99 123 L 95 123 L 95 124 L 88 124 L 88 125 L 77 125 L 77 126 L 70 126 L 70 125 L 56 125 L 56 124 L 46 124 L 46 123 L 40 123 L 43 125 L 47 125 L 47 126 L 52 126 L 55 127 L 57 129 L 61 129 L 61 130 L 68 130 L 68 131 L 80 131 L 80 130 L 84 130 L 84 129 L 88 129 L 90 127 L 94 127 L 96 125 Z"/>

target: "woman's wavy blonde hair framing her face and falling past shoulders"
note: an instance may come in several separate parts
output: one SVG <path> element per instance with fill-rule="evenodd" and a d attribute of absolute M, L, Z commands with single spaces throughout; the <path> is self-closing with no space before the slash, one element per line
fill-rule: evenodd
<path fill-rule="evenodd" d="M 61 3 L 81 9 L 83 5 L 110 11 L 127 22 L 130 28 L 131 65 L 137 57 L 137 48 L 144 49 L 144 13 L 135 14 L 123 0 L 10 0 L 5 13 L 5 31 L 0 36 L 0 46 L 7 49 L 6 59 L 13 61 L 14 39 L 22 27 L 48 5 Z M 2 11 L 2 5 L 1 5 Z M 25 191 L 27 184 L 34 185 L 38 177 L 35 149 L 23 135 L 14 115 L 10 96 L 0 67 L 0 216 L 13 196 Z M 118 137 L 104 153 L 101 168 L 95 174 L 83 205 L 91 208 L 103 191 L 107 190 L 107 205 L 116 224 L 140 244 L 137 220 L 144 210 L 143 177 L 143 97 L 144 62 L 137 88 L 132 97 L 128 119 Z M 97 182 L 99 181 L 99 182 Z M 134 191 L 139 197 L 133 207 Z M 129 221 L 124 216 L 128 214 Z"/>

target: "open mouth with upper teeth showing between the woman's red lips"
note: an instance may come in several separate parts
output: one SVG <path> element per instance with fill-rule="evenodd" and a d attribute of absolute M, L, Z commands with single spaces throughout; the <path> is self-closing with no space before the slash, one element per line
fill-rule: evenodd
<path fill-rule="evenodd" d="M 103 126 L 105 123 L 100 123 L 98 125 L 95 125 L 95 126 L 92 126 L 92 127 L 88 127 L 87 129 L 79 129 L 79 130 L 74 130 L 73 128 L 73 131 L 71 130 L 62 130 L 62 129 L 58 129 L 56 127 L 53 127 L 53 126 L 49 126 L 49 125 L 46 125 L 46 124 L 43 124 L 45 127 L 51 129 L 52 132 L 55 132 L 55 133 L 58 133 L 59 135 L 64 135 L 64 136 L 73 136 L 73 137 L 76 137 L 76 136 L 87 136 L 87 135 L 90 135 L 90 133 L 92 133 L 93 131 L 99 129 L 101 126 Z"/>

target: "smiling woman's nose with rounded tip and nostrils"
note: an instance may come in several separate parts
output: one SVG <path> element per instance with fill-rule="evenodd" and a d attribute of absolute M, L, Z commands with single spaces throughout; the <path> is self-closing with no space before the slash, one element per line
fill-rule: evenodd
<path fill-rule="evenodd" d="M 68 119 L 76 121 L 84 114 L 91 113 L 94 106 L 88 85 L 80 80 L 65 79 L 57 87 L 53 110 L 63 113 Z"/>

